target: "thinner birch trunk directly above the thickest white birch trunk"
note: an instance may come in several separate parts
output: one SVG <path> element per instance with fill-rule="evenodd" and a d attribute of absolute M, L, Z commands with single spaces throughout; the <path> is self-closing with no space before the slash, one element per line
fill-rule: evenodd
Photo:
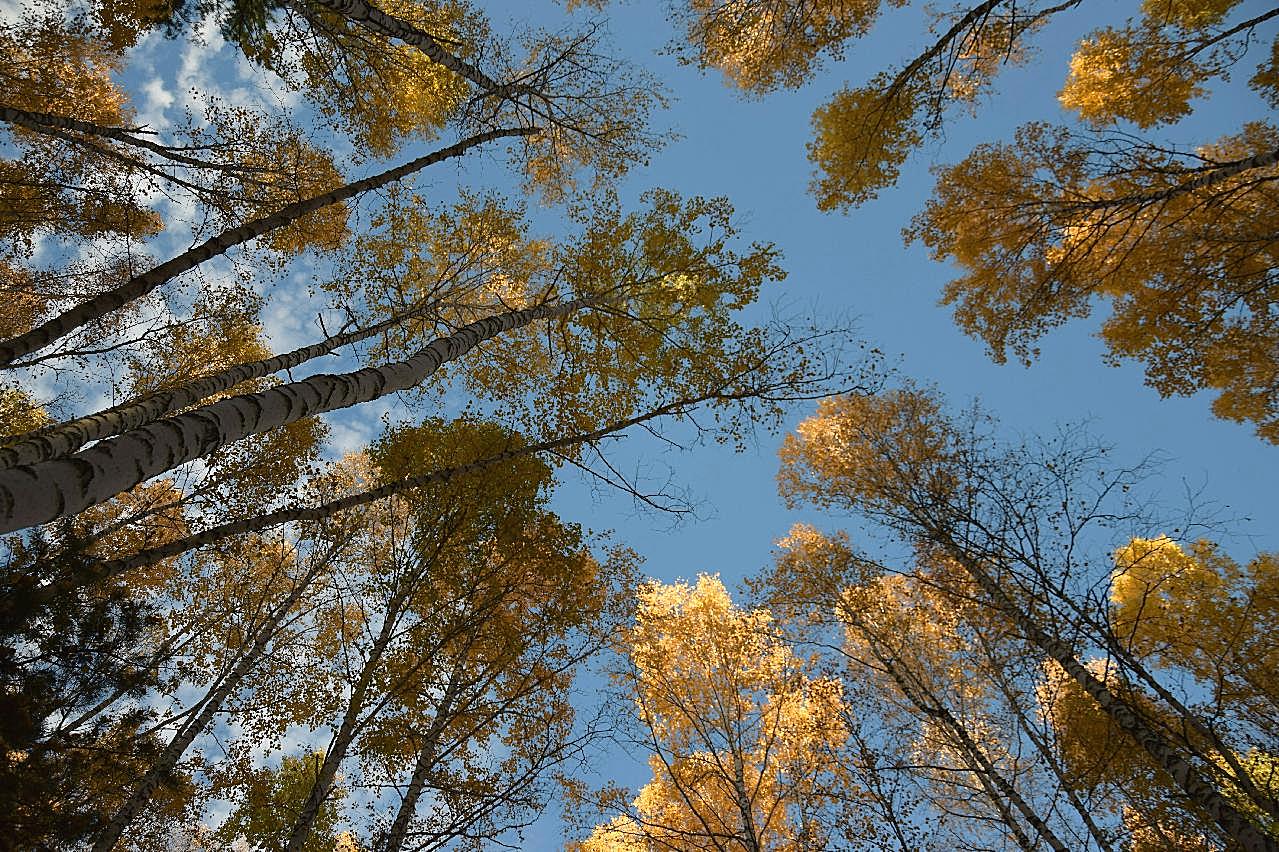
<path fill-rule="evenodd" d="M 281 370 L 292 370 L 307 361 L 340 349 L 347 344 L 366 340 L 432 307 L 434 303 L 423 304 L 416 311 L 399 313 L 365 329 L 333 335 L 320 343 L 313 343 L 285 354 L 239 363 L 211 376 L 192 379 L 177 388 L 160 390 L 142 399 L 124 403 L 123 406 L 115 406 L 49 429 L 18 435 L 9 439 L 12 443 L 0 446 L 0 469 L 8 469 L 19 464 L 37 464 L 70 455 L 91 441 L 146 426 L 179 408 L 187 408 L 216 393 L 230 390 L 243 381 L 269 376 Z"/>

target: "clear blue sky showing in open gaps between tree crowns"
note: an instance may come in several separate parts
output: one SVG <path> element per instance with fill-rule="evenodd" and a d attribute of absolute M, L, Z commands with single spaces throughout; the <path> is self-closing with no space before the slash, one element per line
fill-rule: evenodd
<path fill-rule="evenodd" d="M 496 32 L 508 31 L 509 20 L 554 28 L 564 14 L 549 1 L 486 8 Z M 680 136 L 628 179 L 623 196 L 633 201 L 655 185 L 684 194 L 728 196 L 743 237 L 775 243 L 789 271 L 784 284 L 765 294 L 756 319 L 766 317 L 769 301 L 781 301 L 792 312 L 851 315 L 867 343 L 886 353 L 903 375 L 935 385 L 957 407 L 981 399 L 1010 435 L 1051 432 L 1062 423 L 1088 421 L 1096 435 L 1115 445 L 1120 461 L 1160 453 L 1166 461 L 1149 482 L 1151 491 L 1170 507 L 1183 503 L 1187 494 L 1218 504 L 1223 519 L 1234 518 L 1225 527 L 1229 535 L 1220 536 L 1223 542 L 1246 559 L 1257 550 L 1279 549 L 1279 500 L 1273 485 L 1279 480 L 1279 448 L 1261 443 L 1248 426 L 1215 420 L 1205 394 L 1161 399 L 1143 385 L 1138 365 L 1106 366 L 1094 336 L 1101 317 L 1050 334 L 1042 356 L 1028 368 L 996 366 L 936 303 L 952 270 L 929 260 L 921 247 L 903 246 L 900 238 L 930 193 L 930 166 L 957 161 L 978 142 L 1005 139 L 1024 122 L 1068 120 L 1055 93 L 1074 42 L 1088 29 L 1134 10 L 1136 3 L 1094 0 L 1054 19 L 1036 41 L 1039 54 L 1024 67 L 1007 69 L 975 116 L 954 115 L 944 138 L 926 145 L 907 164 L 897 187 L 843 215 L 819 212 L 807 194 L 810 116 L 844 82 L 858 84 L 922 50 L 930 37 L 917 13 L 890 9 L 868 37 L 851 45 L 845 59 L 828 63 L 799 91 L 746 100 L 719 75 L 682 68 L 655 52 L 677 36 L 656 4 L 614 4 L 606 12 L 614 45 L 664 81 L 675 100 L 656 120 Z M 171 43 L 156 40 L 139 50 L 132 73 L 141 81 L 134 91 L 142 120 L 157 127 L 174 120 L 191 86 L 216 84 L 234 97 L 255 97 L 251 87 L 235 92 L 251 81 L 244 64 L 229 49 L 219 52 L 217 42 L 214 37 L 208 49 L 188 50 L 185 56 L 175 56 Z M 1264 104 L 1242 86 L 1247 75 L 1241 73 L 1239 81 L 1200 102 L 1195 116 L 1159 136 L 1193 145 L 1261 116 Z M 423 183 L 435 182 L 441 189 L 448 184 L 435 175 Z M 306 276 L 294 283 L 292 293 L 272 293 L 267 307 L 266 322 L 278 349 L 315 336 Z M 389 411 L 389 404 L 370 406 L 334 418 L 335 439 L 354 448 L 377 431 L 379 416 Z M 797 408 L 787 427 L 808 413 L 811 408 Z M 783 508 L 774 484 L 779 444 L 780 435 L 761 434 L 757 445 L 741 454 L 715 445 L 674 454 L 637 436 L 614 450 L 611 458 L 623 469 L 665 478 L 670 468 L 677 484 L 691 491 L 698 517 L 675 525 L 668 516 L 637 509 L 623 494 L 592 489 L 573 473 L 567 475 L 555 505 L 567 519 L 613 530 L 618 541 L 646 559 L 654 577 L 669 581 L 719 572 L 733 586 L 769 562 L 773 542 L 796 521 L 840 525 Z M 631 780 L 641 782 L 642 774 Z M 550 843 L 556 832 L 551 820 L 532 837 L 538 844 Z"/>

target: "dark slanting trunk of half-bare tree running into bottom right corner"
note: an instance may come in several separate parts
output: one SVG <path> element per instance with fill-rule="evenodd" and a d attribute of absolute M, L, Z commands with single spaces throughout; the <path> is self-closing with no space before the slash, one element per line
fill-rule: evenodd
<path fill-rule="evenodd" d="M 1055 660 L 1067 674 L 1087 691 L 1101 710 L 1109 715 L 1120 729 L 1146 750 L 1177 785 L 1196 806 L 1202 809 L 1227 837 L 1239 844 L 1244 852 L 1279 852 L 1279 843 L 1266 837 L 1243 814 L 1230 805 L 1211 782 L 1206 780 L 1177 750 L 1154 728 L 1151 728 L 1127 701 L 1110 691 L 1104 681 L 1088 670 L 1065 642 L 1054 638 L 1035 622 L 1021 606 L 1012 601 L 999 582 L 991 577 L 967 551 L 955 545 L 931 525 L 927 532 L 934 541 L 945 548 L 948 554 L 972 577 L 973 582 L 990 597 L 999 611 L 1013 619 L 1018 629 L 1050 659 Z"/>

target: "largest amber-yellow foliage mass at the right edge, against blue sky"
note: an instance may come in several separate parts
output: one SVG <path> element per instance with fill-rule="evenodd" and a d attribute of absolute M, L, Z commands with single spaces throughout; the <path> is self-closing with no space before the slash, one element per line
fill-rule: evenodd
<path fill-rule="evenodd" d="M 940 170 L 909 235 L 958 261 L 943 301 L 996 361 L 1012 349 L 1028 362 L 1040 335 L 1101 296 L 1115 358 L 1142 359 L 1165 395 L 1218 390 L 1219 417 L 1279 441 L 1279 258 L 1267 237 L 1279 165 L 1265 162 L 1276 148 L 1279 130 L 1248 124 L 1202 147 L 1204 168 L 1159 148 L 1099 155 L 1090 139 L 1031 124 L 1013 145 L 978 146 Z"/>

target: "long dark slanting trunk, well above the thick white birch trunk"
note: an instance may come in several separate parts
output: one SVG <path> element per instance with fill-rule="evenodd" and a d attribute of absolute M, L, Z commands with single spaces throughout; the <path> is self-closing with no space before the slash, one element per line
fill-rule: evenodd
<path fill-rule="evenodd" d="M 411 160 L 404 165 L 388 169 L 386 171 L 365 178 L 363 180 L 348 183 L 347 185 L 339 187 L 331 192 L 325 192 L 312 198 L 297 201 L 274 214 L 247 221 L 229 230 L 224 230 L 216 237 L 205 241 L 200 246 L 189 248 L 177 257 L 168 260 L 164 264 L 142 272 L 141 275 L 130 278 L 120 287 L 107 290 L 100 296 L 95 296 L 87 302 L 82 302 L 54 319 L 47 320 L 26 334 L 19 334 L 15 338 L 0 342 L 0 367 L 10 366 L 18 358 L 42 349 L 67 336 L 75 329 L 83 327 L 84 325 L 88 325 L 90 322 L 124 307 L 129 302 L 142 298 L 165 281 L 200 266 L 205 261 L 217 257 L 219 255 L 224 255 L 228 249 L 239 246 L 240 243 L 247 243 L 251 239 L 256 239 L 271 233 L 272 230 L 284 228 L 307 214 L 327 207 L 329 205 L 345 201 L 347 198 L 353 198 L 362 192 L 384 187 L 436 162 L 441 162 L 451 157 L 459 157 L 471 148 L 483 145 L 485 142 L 506 137 L 532 136 L 538 132 L 540 130 L 537 128 L 505 128 L 478 133 L 462 139 L 457 145 L 451 145 L 446 148 L 440 148 L 439 151 L 427 154 L 426 156 Z"/>

